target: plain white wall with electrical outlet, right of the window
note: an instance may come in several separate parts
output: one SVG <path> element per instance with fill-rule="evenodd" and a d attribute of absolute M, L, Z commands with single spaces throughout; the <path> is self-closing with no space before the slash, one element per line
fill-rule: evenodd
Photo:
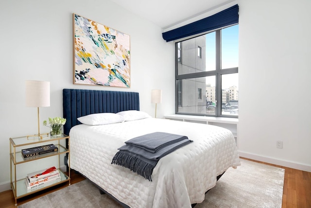
<path fill-rule="evenodd" d="M 311 171 L 311 1 L 238 3 L 240 156 Z"/>

